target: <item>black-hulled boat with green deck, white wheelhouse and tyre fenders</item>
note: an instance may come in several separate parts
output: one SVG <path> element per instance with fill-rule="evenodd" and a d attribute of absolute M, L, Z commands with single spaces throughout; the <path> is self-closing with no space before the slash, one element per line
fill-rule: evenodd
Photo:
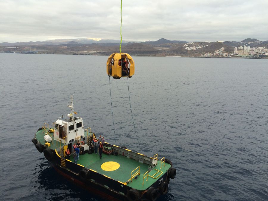
<path fill-rule="evenodd" d="M 102 158 L 92 153 L 95 134 L 85 128 L 83 119 L 74 112 L 73 96 L 68 118 L 61 116 L 49 127 L 44 123 L 32 138 L 39 152 L 51 163 L 58 174 L 88 191 L 110 200 L 155 201 L 168 191 L 169 180 L 176 169 L 158 154 L 148 157 L 105 142 Z M 80 156 L 75 163 L 74 143 L 82 142 Z M 66 149 L 70 157 L 66 157 Z"/>

